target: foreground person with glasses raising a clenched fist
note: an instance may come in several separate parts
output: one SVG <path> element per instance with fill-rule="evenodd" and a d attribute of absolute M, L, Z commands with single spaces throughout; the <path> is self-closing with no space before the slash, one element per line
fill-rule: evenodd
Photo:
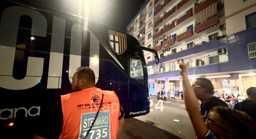
<path fill-rule="evenodd" d="M 202 84 L 197 84 L 198 82 L 193 83 L 192 88 L 187 73 L 188 63 L 181 62 L 179 65 L 185 107 L 197 139 L 252 139 L 255 125 L 252 118 L 244 112 L 226 106 L 215 106 L 211 108 L 209 114 L 205 113 L 205 116 L 201 116 L 194 88 L 204 88 Z"/>

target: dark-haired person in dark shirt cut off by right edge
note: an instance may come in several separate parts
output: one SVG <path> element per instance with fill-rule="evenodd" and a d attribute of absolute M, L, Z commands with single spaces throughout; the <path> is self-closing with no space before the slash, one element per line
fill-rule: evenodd
<path fill-rule="evenodd" d="M 248 98 L 242 102 L 238 102 L 234 106 L 234 109 L 241 110 L 250 115 L 256 124 L 256 87 L 248 88 L 246 90 L 246 94 Z"/>

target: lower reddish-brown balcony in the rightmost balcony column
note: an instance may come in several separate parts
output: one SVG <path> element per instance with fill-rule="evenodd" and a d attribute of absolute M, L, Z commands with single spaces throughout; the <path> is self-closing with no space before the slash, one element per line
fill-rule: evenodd
<path fill-rule="evenodd" d="M 195 33 L 199 33 L 200 31 L 208 29 L 209 27 L 217 25 L 218 23 L 219 23 L 219 17 L 217 15 L 217 16 L 201 23 L 200 25 L 195 26 Z"/>

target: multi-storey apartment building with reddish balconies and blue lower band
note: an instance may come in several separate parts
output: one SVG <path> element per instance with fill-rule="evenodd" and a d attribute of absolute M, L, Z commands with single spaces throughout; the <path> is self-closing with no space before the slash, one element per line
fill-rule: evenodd
<path fill-rule="evenodd" d="M 255 0 L 147 0 L 127 33 L 158 52 L 158 65 L 144 52 L 150 94 L 182 90 L 180 59 L 191 82 L 205 77 L 219 93 L 255 87 L 255 13 Z"/>

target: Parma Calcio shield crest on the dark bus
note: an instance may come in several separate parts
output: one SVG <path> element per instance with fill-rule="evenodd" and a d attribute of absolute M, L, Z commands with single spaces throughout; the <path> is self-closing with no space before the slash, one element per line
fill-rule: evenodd
<path fill-rule="evenodd" d="M 109 30 L 109 44 L 117 54 L 122 54 L 126 50 L 126 35 Z"/>

